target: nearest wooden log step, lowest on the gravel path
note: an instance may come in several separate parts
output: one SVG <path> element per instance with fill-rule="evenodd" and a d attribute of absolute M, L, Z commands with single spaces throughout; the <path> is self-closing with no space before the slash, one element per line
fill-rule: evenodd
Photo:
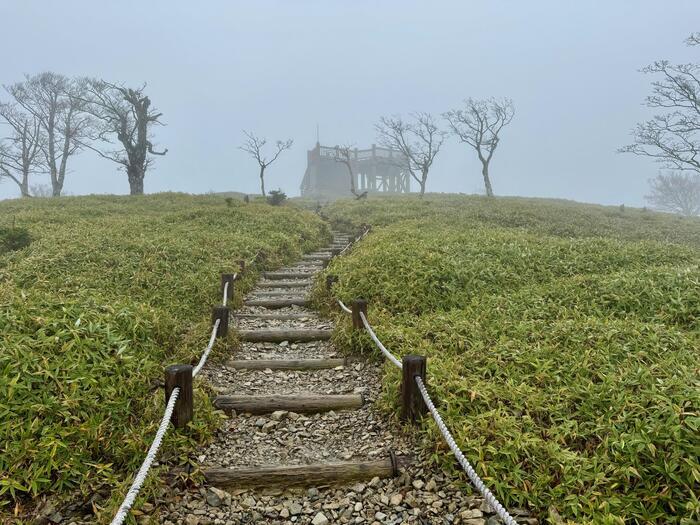
<path fill-rule="evenodd" d="M 410 459 L 395 456 L 371 461 L 339 461 L 308 465 L 275 465 L 255 467 L 210 467 L 203 469 L 207 483 L 220 488 L 267 486 L 316 486 L 344 483 L 361 479 L 390 478 L 399 475 L 399 469 Z"/>

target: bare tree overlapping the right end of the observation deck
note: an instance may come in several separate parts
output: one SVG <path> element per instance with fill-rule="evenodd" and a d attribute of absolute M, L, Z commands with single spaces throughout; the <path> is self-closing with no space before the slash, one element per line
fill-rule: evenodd
<path fill-rule="evenodd" d="M 383 146 L 401 152 L 405 164 L 401 167 L 420 185 L 420 196 L 425 194 L 425 183 L 435 157 L 445 140 L 430 113 L 412 113 L 412 121 L 401 117 L 381 117 L 375 126 Z"/>

